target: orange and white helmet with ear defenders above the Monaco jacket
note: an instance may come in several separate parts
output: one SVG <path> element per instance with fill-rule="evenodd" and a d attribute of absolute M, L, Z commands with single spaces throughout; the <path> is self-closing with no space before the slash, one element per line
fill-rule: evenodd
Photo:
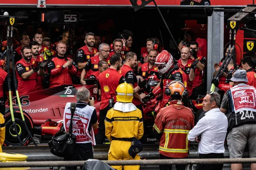
<path fill-rule="evenodd" d="M 166 89 L 165 94 L 168 96 L 180 96 L 182 98 L 186 98 L 189 95 L 185 85 L 180 81 L 172 81 L 169 84 L 169 88 Z"/>

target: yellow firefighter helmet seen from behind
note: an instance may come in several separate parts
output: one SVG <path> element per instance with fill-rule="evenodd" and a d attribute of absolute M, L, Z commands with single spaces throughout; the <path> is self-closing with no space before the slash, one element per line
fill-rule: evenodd
<path fill-rule="evenodd" d="M 134 95 L 134 90 L 130 84 L 124 82 L 116 88 L 116 101 L 123 103 L 131 103 Z"/>

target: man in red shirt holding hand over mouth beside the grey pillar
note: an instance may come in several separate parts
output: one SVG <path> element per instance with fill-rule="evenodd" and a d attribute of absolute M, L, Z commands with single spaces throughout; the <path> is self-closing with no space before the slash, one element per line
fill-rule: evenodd
<path fill-rule="evenodd" d="M 198 99 L 199 95 L 204 95 L 204 84 L 203 84 L 203 74 L 204 68 L 207 64 L 206 58 L 203 56 L 198 56 L 198 42 L 191 41 L 189 45 L 190 49 L 190 58 L 193 61 L 199 60 L 198 63 L 195 65 L 195 79 L 193 80 L 193 91 L 192 91 L 192 99 Z"/>

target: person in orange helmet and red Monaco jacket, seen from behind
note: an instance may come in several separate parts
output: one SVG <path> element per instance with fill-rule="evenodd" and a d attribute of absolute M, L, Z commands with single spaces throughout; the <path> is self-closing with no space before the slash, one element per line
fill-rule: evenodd
<path fill-rule="evenodd" d="M 191 109 L 183 106 L 181 98 L 188 92 L 183 83 L 171 82 L 166 94 L 171 95 L 169 106 L 162 108 L 154 122 L 153 133 L 160 140 L 160 159 L 186 159 L 189 153 L 187 135 L 194 127 L 194 115 Z M 171 170 L 172 165 L 160 165 L 160 170 Z M 177 170 L 185 170 L 185 165 L 176 165 Z"/>

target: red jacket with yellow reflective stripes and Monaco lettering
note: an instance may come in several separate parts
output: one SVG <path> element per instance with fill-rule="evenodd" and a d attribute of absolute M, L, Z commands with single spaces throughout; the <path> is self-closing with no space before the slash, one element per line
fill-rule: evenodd
<path fill-rule="evenodd" d="M 157 114 L 154 129 L 162 133 L 159 145 L 159 153 L 171 158 L 185 158 L 189 152 L 189 130 L 194 127 L 194 115 L 192 111 L 178 105 L 177 101 L 162 108 Z"/>

